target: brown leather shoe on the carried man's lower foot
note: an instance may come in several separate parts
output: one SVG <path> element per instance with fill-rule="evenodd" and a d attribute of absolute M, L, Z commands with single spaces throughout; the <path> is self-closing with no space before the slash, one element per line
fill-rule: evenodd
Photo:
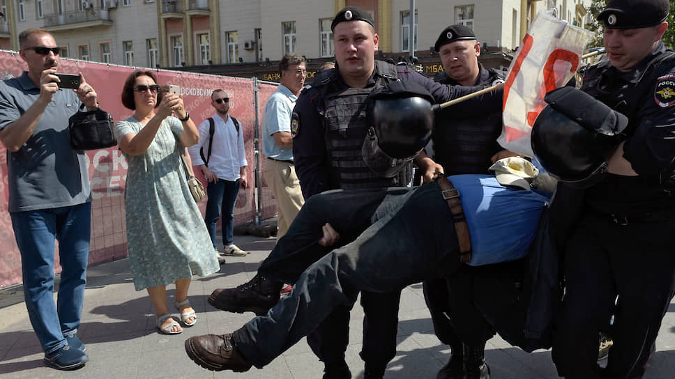
<path fill-rule="evenodd" d="M 211 371 L 232 370 L 243 373 L 251 368 L 234 346 L 232 334 L 190 337 L 185 340 L 185 353 L 199 366 Z"/>

